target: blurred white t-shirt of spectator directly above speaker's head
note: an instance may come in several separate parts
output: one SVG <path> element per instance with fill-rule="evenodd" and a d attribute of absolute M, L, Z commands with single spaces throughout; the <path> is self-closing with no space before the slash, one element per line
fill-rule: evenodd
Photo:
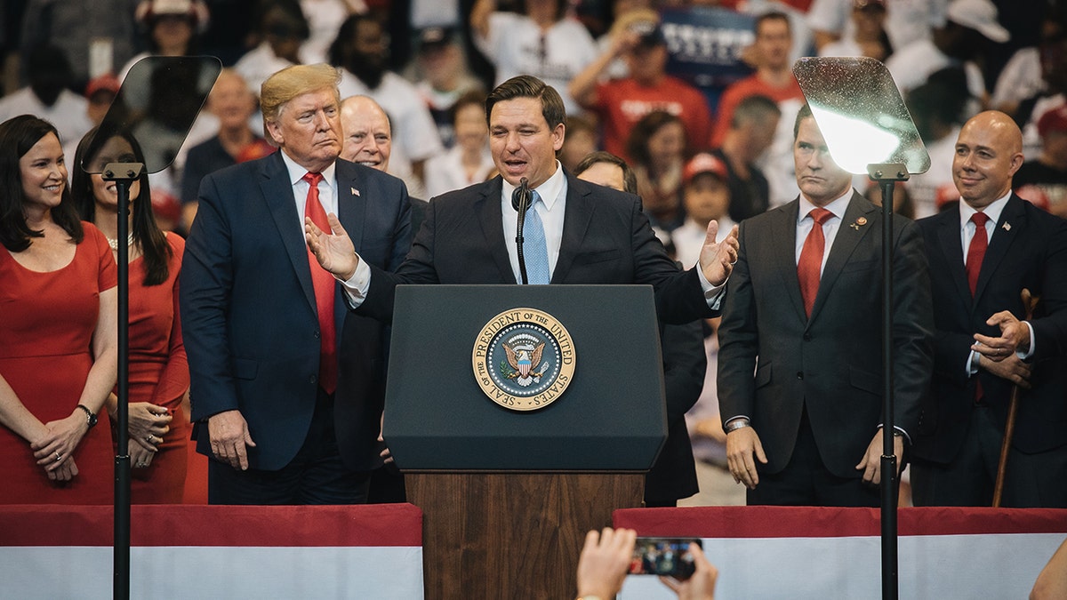
<path fill-rule="evenodd" d="M 534 20 L 516 13 L 489 16 L 489 37 L 474 36 L 485 58 L 496 65 L 496 83 L 517 75 L 532 75 L 552 85 L 563 98 L 568 114 L 582 108 L 567 88 L 596 59 L 596 42 L 577 20 L 564 18 L 543 32 Z"/>

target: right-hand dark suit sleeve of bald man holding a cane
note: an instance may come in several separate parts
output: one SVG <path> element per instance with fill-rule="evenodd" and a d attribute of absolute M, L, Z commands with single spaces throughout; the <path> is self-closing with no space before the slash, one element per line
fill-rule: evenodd
<path fill-rule="evenodd" d="M 1036 345 L 1034 361 L 1067 354 L 1067 221 L 1055 220 L 1047 248 L 1038 317 L 1031 320 Z"/>

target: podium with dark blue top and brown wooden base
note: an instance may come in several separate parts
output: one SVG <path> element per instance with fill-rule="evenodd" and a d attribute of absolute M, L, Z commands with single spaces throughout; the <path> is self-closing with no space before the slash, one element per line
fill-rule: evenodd
<path fill-rule="evenodd" d="M 509 410 L 479 388 L 495 316 L 534 309 L 573 343 L 569 388 Z M 384 437 L 424 512 L 426 598 L 568 599 L 586 533 L 641 506 L 667 436 L 649 286 L 399 286 Z"/>

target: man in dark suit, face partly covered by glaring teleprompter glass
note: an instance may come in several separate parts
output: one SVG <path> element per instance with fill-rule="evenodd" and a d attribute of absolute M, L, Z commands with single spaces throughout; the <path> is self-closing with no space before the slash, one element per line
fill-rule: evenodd
<path fill-rule="evenodd" d="M 740 225 L 719 328 L 719 405 L 749 504 L 877 506 L 882 453 L 881 217 L 805 106 L 800 196 Z M 894 452 L 930 377 L 929 282 L 914 223 L 893 220 Z M 754 373 L 754 376 L 753 376 Z"/>

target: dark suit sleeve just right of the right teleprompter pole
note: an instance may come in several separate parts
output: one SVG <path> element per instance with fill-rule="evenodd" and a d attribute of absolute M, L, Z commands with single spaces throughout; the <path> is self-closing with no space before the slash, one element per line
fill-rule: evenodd
<path fill-rule="evenodd" d="M 893 256 L 893 419 L 896 427 L 914 436 L 933 375 L 934 304 L 919 226 L 894 219 L 894 230 L 901 233 Z"/>

